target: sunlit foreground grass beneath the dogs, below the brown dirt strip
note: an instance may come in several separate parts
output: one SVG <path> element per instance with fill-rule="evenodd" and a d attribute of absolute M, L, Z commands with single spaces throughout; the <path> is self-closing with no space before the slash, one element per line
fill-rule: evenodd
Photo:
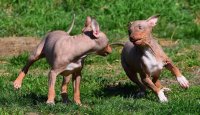
<path fill-rule="evenodd" d="M 84 106 L 74 103 L 63 104 L 61 102 L 60 85 L 62 77 L 57 77 L 56 104 L 46 105 L 48 82 L 47 75 L 49 66 L 42 59 L 31 66 L 29 74 L 23 81 L 20 90 L 14 90 L 12 82 L 16 79 L 19 70 L 26 62 L 28 53 L 19 56 L 1 58 L 3 63 L 0 67 L 5 72 L 0 77 L 0 114 L 199 114 L 200 87 L 199 82 L 194 81 L 199 76 L 189 68 L 199 67 L 198 49 L 191 49 L 198 45 L 199 41 L 180 40 L 179 44 L 164 47 L 164 50 L 179 66 L 183 74 L 189 79 L 191 86 L 188 90 L 180 88 L 178 83 L 168 84 L 172 92 L 167 93 L 168 103 L 159 103 L 158 98 L 147 92 L 143 98 L 135 98 L 134 94 L 138 87 L 126 77 L 120 66 L 120 50 L 115 48 L 113 54 L 107 57 L 91 55 L 86 59 L 82 71 L 81 100 Z M 198 44 L 197 44 L 198 43 Z M 184 49 L 189 55 L 184 55 Z M 192 53 L 193 52 L 193 53 Z M 195 53 L 194 53 L 195 52 Z M 192 56 L 194 55 L 194 57 Z M 197 57 L 196 57 L 197 56 Z M 183 61 L 184 59 L 184 61 Z M 189 63 L 190 61 L 194 63 Z M 162 80 L 175 80 L 168 71 L 163 71 Z M 69 87 L 69 97 L 73 99 L 72 83 Z"/>

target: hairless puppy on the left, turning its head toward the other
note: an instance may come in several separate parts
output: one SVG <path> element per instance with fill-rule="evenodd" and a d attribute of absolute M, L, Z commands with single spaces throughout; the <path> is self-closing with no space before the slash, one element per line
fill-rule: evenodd
<path fill-rule="evenodd" d="M 76 104 L 81 104 L 80 80 L 84 58 L 89 53 L 106 56 L 112 52 L 106 35 L 100 31 L 99 24 L 95 19 L 88 16 L 82 32 L 82 34 L 75 36 L 70 36 L 69 33 L 64 31 L 53 31 L 48 33 L 35 51 L 30 55 L 27 64 L 14 81 L 14 87 L 16 89 L 20 88 L 29 67 L 35 61 L 45 57 L 51 66 L 48 75 L 49 90 L 47 103 L 54 104 L 54 88 L 56 77 L 59 74 L 63 76 L 61 96 L 63 102 L 68 101 L 67 85 L 70 81 L 69 75 L 72 74 L 74 101 Z"/>

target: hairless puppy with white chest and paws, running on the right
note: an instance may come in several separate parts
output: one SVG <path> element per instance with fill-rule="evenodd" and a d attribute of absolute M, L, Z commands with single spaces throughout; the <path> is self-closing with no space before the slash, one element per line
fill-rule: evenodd
<path fill-rule="evenodd" d="M 189 82 L 153 38 L 151 32 L 157 20 L 158 15 L 147 20 L 130 22 L 128 27 L 130 41 L 124 45 L 121 63 L 127 76 L 140 87 L 137 96 L 144 95 L 147 86 L 158 96 L 160 102 L 167 102 L 164 91 L 170 89 L 163 88 L 158 79 L 163 67 L 175 75 L 183 88 L 188 88 Z M 137 73 L 141 80 L 138 79 Z"/>

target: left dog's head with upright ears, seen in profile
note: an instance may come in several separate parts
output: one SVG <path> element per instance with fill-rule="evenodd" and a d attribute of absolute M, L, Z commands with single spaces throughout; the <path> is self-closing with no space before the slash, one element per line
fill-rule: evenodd
<path fill-rule="evenodd" d="M 95 19 L 92 19 L 90 16 L 88 16 L 82 32 L 95 41 L 96 46 L 94 51 L 96 54 L 106 56 L 112 52 L 112 48 L 108 43 L 107 36 L 100 31 L 99 24 Z"/>

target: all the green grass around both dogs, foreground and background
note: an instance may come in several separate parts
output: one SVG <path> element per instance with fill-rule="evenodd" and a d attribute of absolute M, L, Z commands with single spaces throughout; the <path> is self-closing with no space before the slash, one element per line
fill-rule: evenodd
<path fill-rule="evenodd" d="M 196 114 L 200 113 L 200 3 L 197 0 L 1 0 L 0 36 L 42 37 L 52 30 L 67 30 L 76 14 L 72 35 L 79 34 L 87 15 L 95 17 L 111 42 L 127 40 L 129 21 L 160 14 L 154 35 L 178 40 L 178 44 L 163 47 L 169 57 L 190 81 L 183 90 L 177 82 L 166 86 L 168 103 L 159 103 L 148 91 L 144 98 L 135 98 L 138 87 L 126 77 L 120 64 L 121 47 L 107 57 L 90 55 L 82 71 L 81 100 L 84 106 L 61 103 L 60 85 L 56 81 L 56 104 L 46 105 L 48 71 L 45 59 L 31 66 L 20 90 L 13 81 L 26 63 L 29 53 L 0 57 L 0 114 Z M 175 81 L 167 70 L 161 80 Z M 69 97 L 73 99 L 72 83 Z"/>

